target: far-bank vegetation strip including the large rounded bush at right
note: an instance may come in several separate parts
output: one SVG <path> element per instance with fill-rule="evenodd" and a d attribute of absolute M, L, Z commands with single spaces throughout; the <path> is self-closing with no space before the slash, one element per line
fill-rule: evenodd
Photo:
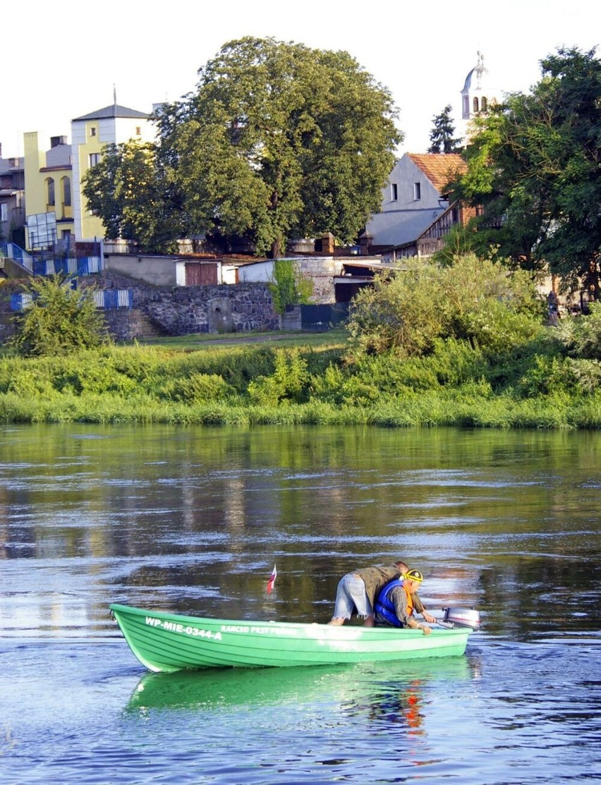
<path fill-rule="evenodd" d="M 381 276 L 345 331 L 288 345 L 44 352 L 22 326 L 0 356 L 0 420 L 599 428 L 601 305 L 559 327 L 543 306 L 526 273 L 463 257 Z"/>

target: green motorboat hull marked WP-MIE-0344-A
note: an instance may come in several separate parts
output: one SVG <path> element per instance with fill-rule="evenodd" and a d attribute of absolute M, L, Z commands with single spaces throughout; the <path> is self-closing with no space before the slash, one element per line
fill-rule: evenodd
<path fill-rule="evenodd" d="M 202 619 L 110 606 L 132 652 L 148 670 L 273 667 L 388 662 L 464 654 L 471 630 L 331 626 Z"/>

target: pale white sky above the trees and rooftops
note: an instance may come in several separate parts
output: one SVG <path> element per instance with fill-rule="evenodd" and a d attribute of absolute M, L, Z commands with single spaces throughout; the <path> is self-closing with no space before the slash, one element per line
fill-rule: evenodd
<path fill-rule="evenodd" d="M 405 133 L 399 154 L 426 152 L 446 104 L 459 125 L 478 51 L 494 85 L 526 93 L 559 46 L 601 44 L 599 0 L 32 0 L 23 11 L 15 3 L 2 11 L 4 158 L 23 154 L 27 131 L 46 147 L 50 136 L 71 141 L 71 120 L 112 104 L 113 86 L 117 103 L 137 111 L 178 100 L 223 44 L 245 35 L 350 52 L 392 93 Z"/>

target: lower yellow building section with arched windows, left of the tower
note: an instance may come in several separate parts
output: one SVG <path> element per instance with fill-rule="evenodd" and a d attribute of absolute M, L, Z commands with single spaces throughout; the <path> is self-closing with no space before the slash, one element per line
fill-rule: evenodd
<path fill-rule="evenodd" d="M 73 181 L 67 137 L 50 137 L 50 148 L 45 151 L 39 147 L 37 131 L 25 133 L 24 180 L 27 248 L 52 247 L 60 240 L 70 243 Z"/>

